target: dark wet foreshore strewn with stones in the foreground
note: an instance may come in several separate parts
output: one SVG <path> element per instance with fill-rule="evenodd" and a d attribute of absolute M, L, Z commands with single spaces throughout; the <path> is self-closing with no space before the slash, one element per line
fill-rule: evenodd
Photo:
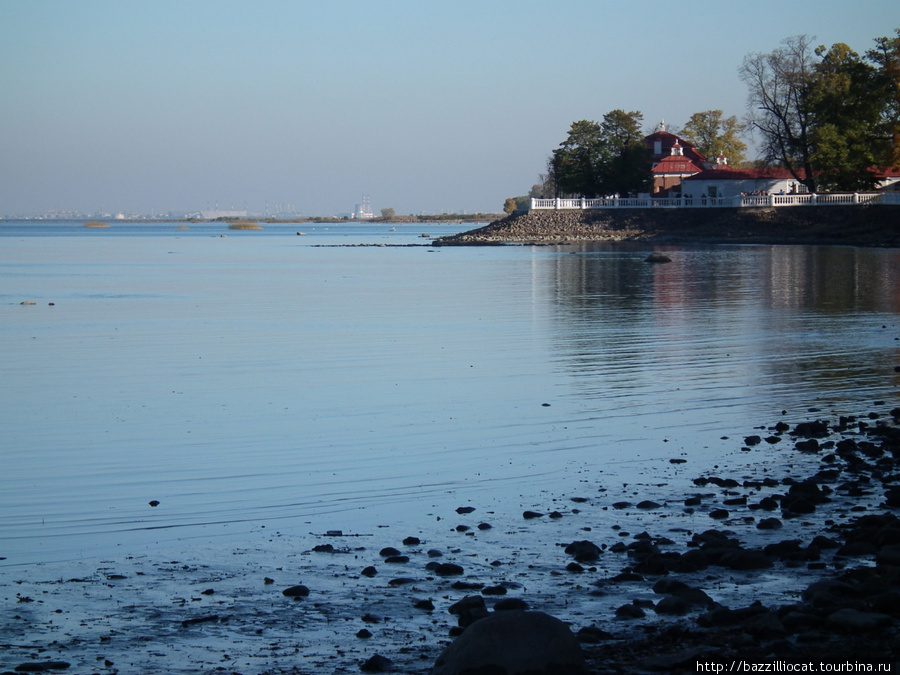
<path fill-rule="evenodd" d="M 900 408 L 810 409 L 748 431 L 735 442 L 758 474 L 717 468 L 666 498 L 582 485 L 517 512 L 517 525 L 466 505 L 392 545 L 389 532 L 334 531 L 302 551 L 5 573 L 0 670 L 424 674 L 501 614 L 504 643 L 526 643 L 511 659 L 550 649 L 528 632 L 558 628 L 545 613 L 578 654 L 553 652 L 559 667 L 534 672 L 897 664 Z M 611 530 L 596 529 L 601 514 Z M 529 533 L 540 543 L 526 546 Z M 433 672 L 473 663 L 454 658 Z"/>

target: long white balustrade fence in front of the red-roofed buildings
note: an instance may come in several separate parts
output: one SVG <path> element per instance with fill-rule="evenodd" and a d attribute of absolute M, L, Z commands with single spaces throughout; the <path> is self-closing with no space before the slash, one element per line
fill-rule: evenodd
<path fill-rule="evenodd" d="M 709 206 L 771 207 L 831 206 L 845 204 L 900 204 L 900 192 L 854 192 L 850 194 L 753 195 L 739 197 L 603 197 L 587 199 L 531 199 L 531 210 L 563 209 L 676 209 Z"/>

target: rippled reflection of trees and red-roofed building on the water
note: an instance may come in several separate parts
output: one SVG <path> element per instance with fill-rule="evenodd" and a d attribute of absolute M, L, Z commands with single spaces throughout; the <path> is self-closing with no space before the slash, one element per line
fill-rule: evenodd
<path fill-rule="evenodd" d="M 841 398 L 883 386 L 900 362 L 896 252 L 666 252 L 674 262 L 648 264 L 640 252 L 598 245 L 553 261 L 555 347 L 585 394 L 608 400 L 650 388 L 659 397 L 648 405 L 654 411 L 683 399 L 683 383 L 700 401 L 721 405 L 812 379 L 825 387 L 817 397 L 833 389 Z"/>

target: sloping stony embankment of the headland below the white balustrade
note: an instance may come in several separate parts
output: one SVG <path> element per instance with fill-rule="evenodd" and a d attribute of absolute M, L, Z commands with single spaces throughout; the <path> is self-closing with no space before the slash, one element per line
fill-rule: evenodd
<path fill-rule="evenodd" d="M 531 211 L 434 242 L 436 246 L 657 243 L 900 246 L 900 206 Z"/>

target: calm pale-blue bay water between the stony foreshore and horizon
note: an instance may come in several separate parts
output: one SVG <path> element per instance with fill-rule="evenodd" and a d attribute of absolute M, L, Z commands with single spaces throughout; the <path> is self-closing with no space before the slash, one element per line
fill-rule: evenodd
<path fill-rule="evenodd" d="M 900 251 L 420 237 L 459 229 L 0 223 L 0 564 L 665 492 L 900 404 Z"/>

